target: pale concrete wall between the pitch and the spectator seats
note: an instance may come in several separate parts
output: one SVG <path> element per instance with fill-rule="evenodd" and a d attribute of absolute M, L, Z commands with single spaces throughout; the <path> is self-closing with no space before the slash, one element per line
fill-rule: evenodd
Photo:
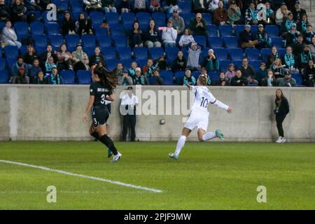
<path fill-rule="evenodd" d="M 209 131 L 220 128 L 226 141 L 274 141 L 278 137 L 273 113 L 276 88 L 209 89 L 217 99 L 235 110 L 228 114 L 216 106 L 209 106 Z M 315 88 L 282 89 L 290 104 L 290 113 L 283 123 L 286 138 L 288 141 L 315 141 Z M 119 95 L 123 90 L 118 87 L 115 91 L 116 101 L 112 103 L 109 118 L 110 135 L 115 140 L 120 139 L 122 130 Z M 163 94 L 169 98 L 168 102 L 161 100 Z M 144 113 L 137 116 L 137 139 L 176 141 L 181 134 L 183 117 L 189 112 L 189 105 L 185 103 L 189 104 L 193 99 L 187 94 L 186 87 L 137 86 L 137 95 L 141 99 L 137 111 Z M 171 102 L 172 95 L 181 99 Z M 0 140 L 92 139 L 87 131 L 90 123 L 81 120 L 89 99 L 87 85 L 0 85 L 0 96 Z M 156 107 L 154 102 L 158 103 Z M 182 105 L 183 109 L 180 109 Z M 170 109 L 178 115 L 161 115 L 162 111 L 170 112 Z M 148 112 L 151 114 L 146 115 Z M 160 125 L 161 119 L 165 119 L 164 125 Z M 195 131 L 189 139 L 197 141 Z"/>

